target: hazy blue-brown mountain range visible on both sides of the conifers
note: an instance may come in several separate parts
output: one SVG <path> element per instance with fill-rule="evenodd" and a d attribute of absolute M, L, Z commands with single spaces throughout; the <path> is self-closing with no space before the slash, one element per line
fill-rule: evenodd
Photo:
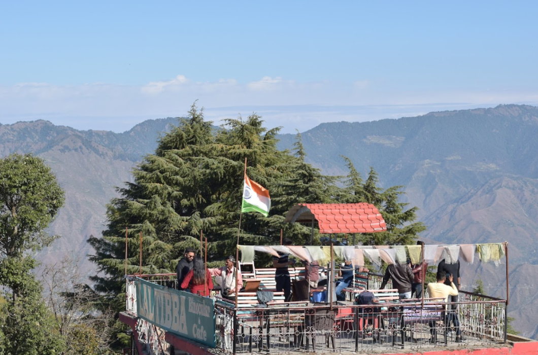
<path fill-rule="evenodd" d="M 44 262 L 69 254 L 86 261 L 86 239 L 100 235 L 105 206 L 130 170 L 152 153 L 175 118 L 147 120 L 124 133 L 78 131 L 46 121 L 0 124 L 0 157 L 32 152 L 46 159 L 66 190 L 66 206 L 52 225 L 62 235 L 41 252 Z M 420 208 L 429 243 L 509 242 L 509 314 L 522 335 L 537 338 L 538 108 L 432 112 L 364 123 L 325 123 L 302 132 L 307 160 L 323 173 L 347 173 L 341 155 L 359 172 L 370 167 L 384 187 L 405 186 Z M 279 136 L 292 148 L 293 134 Z M 464 289 L 477 278 L 492 296 L 505 297 L 505 265 L 475 262 L 464 269 Z"/>

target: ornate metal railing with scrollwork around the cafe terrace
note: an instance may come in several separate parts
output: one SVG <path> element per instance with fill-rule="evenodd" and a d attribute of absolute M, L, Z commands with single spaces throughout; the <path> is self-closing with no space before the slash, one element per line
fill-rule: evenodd
<path fill-rule="evenodd" d="M 175 274 L 143 275 L 160 285 Z M 380 275 L 370 277 L 376 288 Z M 134 279 L 126 281 L 126 310 L 136 316 Z M 472 346 L 506 342 L 506 301 L 460 292 L 458 302 L 420 300 L 375 305 L 278 304 L 267 308 L 239 307 L 215 297 L 216 349 L 218 354 L 269 352 L 287 354 L 334 350 L 339 353 L 422 352 L 435 346 L 461 346 L 461 333 Z M 451 307 L 455 306 L 455 307 Z M 449 309 L 447 311 L 446 309 Z M 452 309 L 452 310 L 451 310 Z M 457 319 L 457 321 L 456 321 Z M 139 319 L 138 340 L 148 352 L 165 353 L 164 332 Z"/>

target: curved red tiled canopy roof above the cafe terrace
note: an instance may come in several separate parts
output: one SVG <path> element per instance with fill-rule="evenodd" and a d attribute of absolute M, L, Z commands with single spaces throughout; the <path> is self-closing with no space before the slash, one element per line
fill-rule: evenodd
<path fill-rule="evenodd" d="M 284 222 L 317 220 L 320 233 L 373 233 L 387 230 L 385 220 L 370 203 L 300 203 L 286 214 Z"/>

